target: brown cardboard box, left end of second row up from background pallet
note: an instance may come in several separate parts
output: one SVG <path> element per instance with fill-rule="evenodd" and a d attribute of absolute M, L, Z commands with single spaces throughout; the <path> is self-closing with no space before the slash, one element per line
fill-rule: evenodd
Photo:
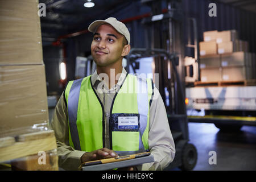
<path fill-rule="evenodd" d="M 200 56 L 200 69 L 221 67 L 220 55 Z"/>

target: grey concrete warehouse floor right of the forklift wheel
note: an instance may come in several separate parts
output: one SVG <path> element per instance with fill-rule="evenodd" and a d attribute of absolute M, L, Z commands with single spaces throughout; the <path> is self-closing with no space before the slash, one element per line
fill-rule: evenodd
<path fill-rule="evenodd" d="M 49 109 L 51 121 L 54 109 Z M 243 126 L 237 133 L 223 133 L 212 123 L 188 123 L 189 143 L 197 149 L 193 170 L 256 170 L 256 127 Z M 217 164 L 209 164 L 209 152 Z M 173 170 L 179 170 L 175 168 Z"/>

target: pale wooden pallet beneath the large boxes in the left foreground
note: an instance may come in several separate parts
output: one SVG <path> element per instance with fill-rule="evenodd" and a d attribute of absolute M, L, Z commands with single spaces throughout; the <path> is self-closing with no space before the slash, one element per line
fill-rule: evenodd
<path fill-rule="evenodd" d="M 57 154 L 49 151 L 57 148 L 53 130 L 38 131 L 14 137 L 1 138 L 0 163 L 10 162 L 13 169 L 57 170 Z M 45 151 L 46 165 L 39 165 L 39 152 Z M 48 152 L 47 152 L 48 151 Z M 51 157 L 51 158 L 50 158 Z"/>

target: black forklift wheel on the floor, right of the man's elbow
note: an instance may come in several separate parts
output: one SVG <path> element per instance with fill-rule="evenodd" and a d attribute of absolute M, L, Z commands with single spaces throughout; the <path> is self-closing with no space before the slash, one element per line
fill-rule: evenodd
<path fill-rule="evenodd" d="M 181 161 L 182 165 L 179 167 L 181 170 L 192 170 L 196 166 L 197 151 L 193 144 L 185 144 L 181 155 Z"/>

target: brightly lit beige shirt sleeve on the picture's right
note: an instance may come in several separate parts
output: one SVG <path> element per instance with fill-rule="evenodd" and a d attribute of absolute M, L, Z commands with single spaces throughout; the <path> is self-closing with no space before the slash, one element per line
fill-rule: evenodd
<path fill-rule="evenodd" d="M 156 88 L 154 88 L 154 97 L 150 106 L 149 124 L 148 146 L 155 162 L 142 164 L 137 168 L 142 171 L 163 170 L 174 160 L 175 144 L 168 123 L 166 107 Z"/>

